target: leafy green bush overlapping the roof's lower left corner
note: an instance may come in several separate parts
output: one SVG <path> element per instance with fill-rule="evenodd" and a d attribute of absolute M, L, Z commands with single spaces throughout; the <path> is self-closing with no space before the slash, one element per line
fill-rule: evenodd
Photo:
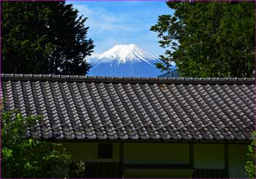
<path fill-rule="evenodd" d="M 84 177 L 84 164 L 73 162 L 61 144 L 28 137 L 26 129 L 37 119 L 1 112 L 1 177 Z"/>

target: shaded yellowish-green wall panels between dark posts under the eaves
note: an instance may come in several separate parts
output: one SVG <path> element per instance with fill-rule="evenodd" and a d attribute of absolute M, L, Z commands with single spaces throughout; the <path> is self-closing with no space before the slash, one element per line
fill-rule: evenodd
<path fill-rule="evenodd" d="M 227 155 L 228 164 L 226 164 L 230 178 L 245 178 L 246 171 L 246 144 L 229 144 L 225 154 L 225 145 L 221 143 L 194 143 L 192 146 L 193 157 L 190 157 L 188 143 L 153 143 L 153 142 L 125 142 L 124 151 L 121 151 L 119 142 L 112 142 L 113 158 L 98 158 L 97 142 L 64 142 L 67 148 L 76 160 L 85 160 L 91 163 L 110 162 L 123 164 L 170 164 L 170 165 L 189 165 L 189 160 L 193 160 L 195 170 L 225 170 L 225 155 Z M 121 153 L 123 158 L 120 159 Z M 132 176 L 133 169 L 126 169 Z M 130 170 L 130 172 L 128 172 Z M 143 170 L 143 169 L 142 169 Z M 146 169 L 145 169 L 146 170 Z M 124 169 L 125 171 L 125 169 Z M 139 172 L 139 170 L 136 170 Z M 166 172 L 170 172 L 167 171 Z"/>

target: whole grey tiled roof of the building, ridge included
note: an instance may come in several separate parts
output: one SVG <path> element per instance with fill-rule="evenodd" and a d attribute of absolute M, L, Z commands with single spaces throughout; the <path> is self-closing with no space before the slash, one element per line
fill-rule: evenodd
<path fill-rule="evenodd" d="M 1 75 L 4 109 L 41 139 L 249 140 L 254 79 Z"/>

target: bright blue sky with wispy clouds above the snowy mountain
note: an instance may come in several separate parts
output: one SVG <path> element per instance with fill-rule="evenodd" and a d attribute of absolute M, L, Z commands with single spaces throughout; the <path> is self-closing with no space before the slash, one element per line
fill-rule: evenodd
<path fill-rule="evenodd" d="M 94 52 L 103 53 L 117 44 L 135 43 L 154 56 L 163 54 L 157 32 L 149 28 L 159 15 L 173 14 L 165 1 L 67 1 L 79 15 L 88 18 L 88 37 L 94 40 Z"/>

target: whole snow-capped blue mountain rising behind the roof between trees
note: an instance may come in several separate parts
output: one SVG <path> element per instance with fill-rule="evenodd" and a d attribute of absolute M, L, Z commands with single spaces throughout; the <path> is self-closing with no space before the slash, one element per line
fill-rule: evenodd
<path fill-rule="evenodd" d="M 86 61 L 92 65 L 89 76 L 157 77 L 157 58 L 135 44 L 115 45 L 105 53 L 94 53 Z"/>

